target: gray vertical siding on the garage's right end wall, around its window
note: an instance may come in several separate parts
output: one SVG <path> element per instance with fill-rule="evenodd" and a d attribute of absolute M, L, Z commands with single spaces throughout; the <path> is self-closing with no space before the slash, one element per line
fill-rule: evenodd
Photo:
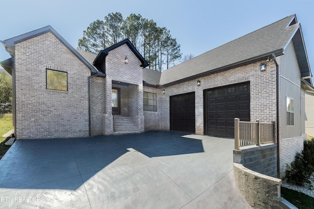
<path fill-rule="evenodd" d="M 301 136 L 301 72 L 295 55 L 294 47 L 290 42 L 281 56 L 280 89 L 281 89 L 281 137 Z M 294 102 L 294 125 L 287 125 L 287 97 Z"/>

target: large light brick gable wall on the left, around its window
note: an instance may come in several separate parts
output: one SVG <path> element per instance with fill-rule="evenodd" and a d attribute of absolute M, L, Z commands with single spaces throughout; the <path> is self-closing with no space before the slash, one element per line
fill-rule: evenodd
<path fill-rule="evenodd" d="M 18 139 L 88 136 L 90 70 L 52 33 L 15 45 Z M 46 69 L 67 72 L 68 92 L 46 89 Z"/>

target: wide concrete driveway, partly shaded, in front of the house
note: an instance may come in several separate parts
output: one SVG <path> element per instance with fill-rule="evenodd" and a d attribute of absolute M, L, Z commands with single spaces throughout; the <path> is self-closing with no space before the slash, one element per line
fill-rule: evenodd
<path fill-rule="evenodd" d="M 0 160 L 0 208 L 250 208 L 233 147 L 162 131 L 17 140 Z"/>

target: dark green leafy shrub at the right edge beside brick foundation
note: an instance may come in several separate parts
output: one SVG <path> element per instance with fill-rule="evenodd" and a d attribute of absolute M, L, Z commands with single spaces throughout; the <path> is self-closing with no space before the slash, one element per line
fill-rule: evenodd
<path fill-rule="evenodd" d="M 310 178 L 314 172 L 314 140 L 305 140 L 304 149 L 297 153 L 294 161 L 287 165 L 286 176 L 288 183 L 311 188 Z"/>

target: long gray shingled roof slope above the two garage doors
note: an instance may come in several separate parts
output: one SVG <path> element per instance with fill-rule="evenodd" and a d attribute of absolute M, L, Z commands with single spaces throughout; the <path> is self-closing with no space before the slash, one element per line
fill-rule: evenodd
<path fill-rule="evenodd" d="M 161 73 L 160 84 L 171 85 L 210 71 L 227 69 L 258 58 L 282 55 L 288 42 L 299 28 L 295 15 L 242 36 L 225 45 L 214 48 L 189 61 Z M 289 26 L 289 24 L 291 25 Z"/>

